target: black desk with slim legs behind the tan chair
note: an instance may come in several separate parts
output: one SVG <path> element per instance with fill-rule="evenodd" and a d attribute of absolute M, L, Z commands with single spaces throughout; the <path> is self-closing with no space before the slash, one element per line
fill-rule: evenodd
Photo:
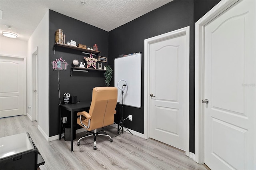
<path fill-rule="evenodd" d="M 73 151 L 73 122 L 74 122 L 74 112 L 76 111 L 84 111 L 84 109 L 86 108 L 90 108 L 90 105 L 91 105 L 91 101 L 81 101 L 80 103 L 74 103 L 74 104 L 60 104 L 60 119 L 61 119 L 61 110 L 62 109 L 66 109 L 68 111 L 70 111 L 70 117 L 71 117 L 71 120 L 70 120 L 70 151 Z M 120 120 L 119 118 L 119 102 L 117 102 L 117 114 L 118 114 L 118 121 Z M 61 123 L 62 121 L 60 121 L 59 119 L 59 140 L 61 139 Z M 119 129 L 119 122 L 118 122 L 118 125 L 117 125 L 117 130 Z"/>

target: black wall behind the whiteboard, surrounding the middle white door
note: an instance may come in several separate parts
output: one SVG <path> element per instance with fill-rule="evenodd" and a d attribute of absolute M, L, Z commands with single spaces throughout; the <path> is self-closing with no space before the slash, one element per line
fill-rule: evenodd
<path fill-rule="evenodd" d="M 144 40 L 190 26 L 190 152 L 195 153 L 195 22 L 217 0 L 174 0 L 109 32 L 109 64 L 120 54 L 144 51 Z M 113 84 L 114 85 L 114 84 Z M 144 133 L 144 53 L 142 53 L 142 108 L 124 106 L 124 117 L 132 114 L 125 127 Z"/>

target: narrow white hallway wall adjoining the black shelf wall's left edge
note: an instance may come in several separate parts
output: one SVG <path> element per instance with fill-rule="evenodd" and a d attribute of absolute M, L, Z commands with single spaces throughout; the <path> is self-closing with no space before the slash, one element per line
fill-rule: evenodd
<path fill-rule="evenodd" d="M 38 129 L 49 138 L 49 11 L 28 40 L 27 107 L 32 106 L 32 54 L 38 47 Z M 32 117 L 32 109 L 28 110 Z"/>

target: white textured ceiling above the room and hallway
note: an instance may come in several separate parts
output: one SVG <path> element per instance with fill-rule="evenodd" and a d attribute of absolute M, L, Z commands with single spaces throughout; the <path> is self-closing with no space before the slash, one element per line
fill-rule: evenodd
<path fill-rule="evenodd" d="M 27 41 L 48 9 L 111 31 L 172 0 L 0 0 L 0 30 Z M 12 26 L 11 29 L 6 25 Z M 2 34 L 1 34 L 2 36 Z"/>

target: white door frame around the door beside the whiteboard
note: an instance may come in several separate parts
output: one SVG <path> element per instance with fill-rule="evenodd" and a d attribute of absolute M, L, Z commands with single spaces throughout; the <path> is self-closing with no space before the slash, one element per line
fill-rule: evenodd
<path fill-rule="evenodd" d="M 186 58 L 187 61 L 185 63 L 186 65 L 186 82 L 188 84 L 186 85 L 186 149 L 185 153 L 186 156 L 189 156 L 189 40 L 190 40 L 190 27 L 187 26 L 185 28 L 181 28 L 172 32 L 168 32 L 159 36 L 155 36 L 152 38 L 148 38 L 144 40 L 144 138 L 148 139 L 149 138 L 149 110 L 150 110 L 150 105 L 149 105 L 149 69 L 150 69 L 150 59 L 149 59 L 149 54 L 150 54 L 150 44 L 154 42 L 159 42 L 161 40 L 166 40 L 168 38 L 174 38 L 176 36 L 180 35 L 186 35 Z"/>

